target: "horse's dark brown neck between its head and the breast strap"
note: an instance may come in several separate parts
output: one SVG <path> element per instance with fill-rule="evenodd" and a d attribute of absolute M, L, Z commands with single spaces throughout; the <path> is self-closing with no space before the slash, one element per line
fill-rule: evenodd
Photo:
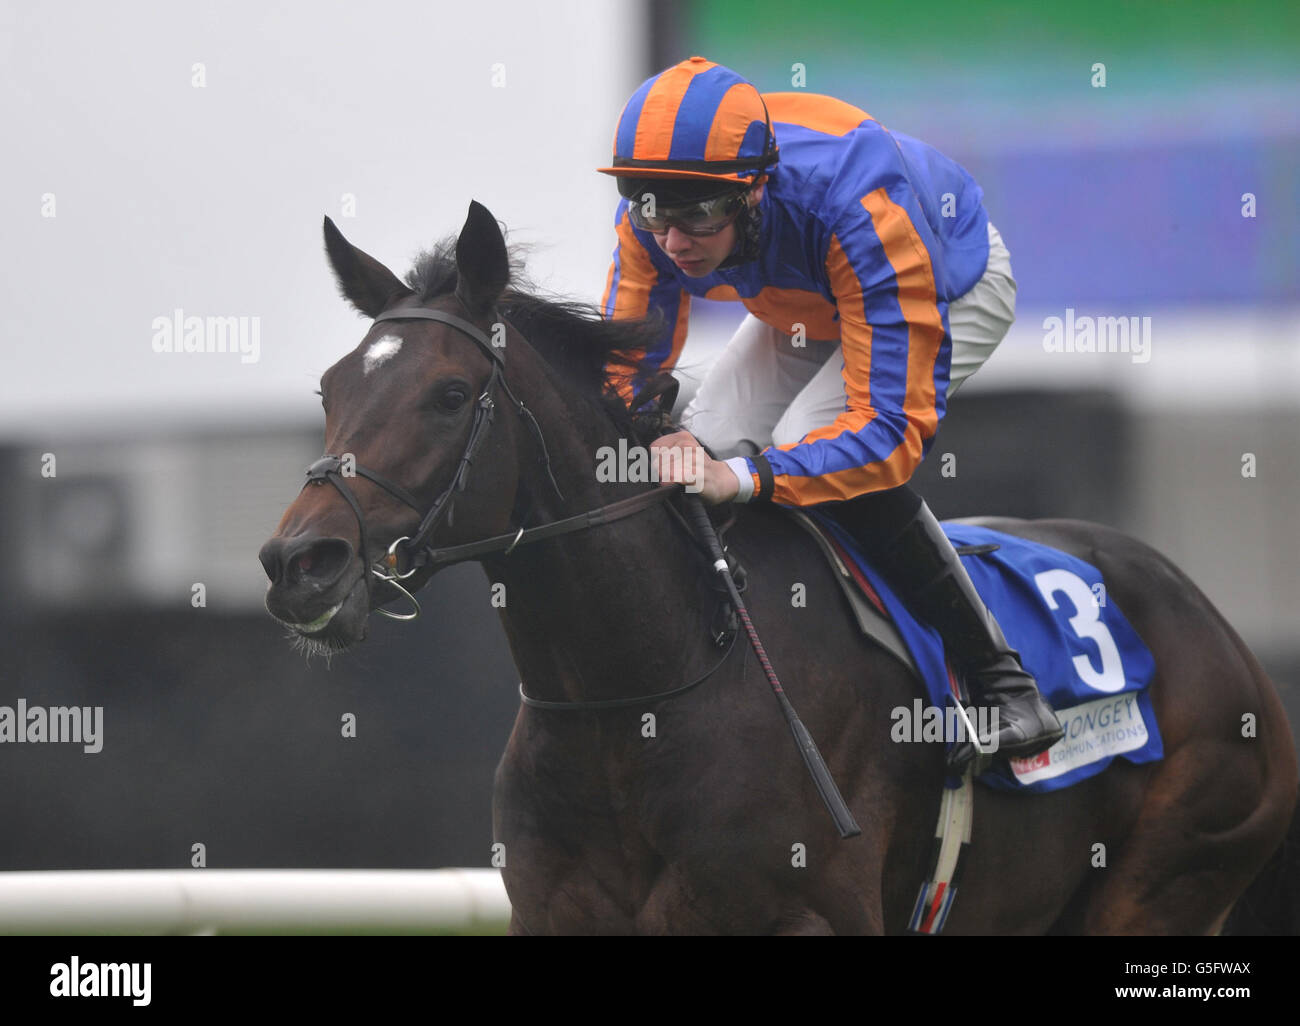
<path fill-rule="evenodd" d="M 524 482 L 546 519 L 645 490 L 597 481 L 597 450 L 616 449 L 619 436 L 585 401 L 556 393 L 530 406 L 564 494 L 558 505 L 540 468 L 537 480 Z M 521 463 L 537 466 L 530 455 Z M 715 653 L 707 641 L 712 609 L 699 602 L 699 558 L 663 505 L 520 546 L 484 560 L 484 568 L 504 585 L 497 592 L 502 619 L 532 697 L 594 701 L 667 691 L 698 676 Z"/>

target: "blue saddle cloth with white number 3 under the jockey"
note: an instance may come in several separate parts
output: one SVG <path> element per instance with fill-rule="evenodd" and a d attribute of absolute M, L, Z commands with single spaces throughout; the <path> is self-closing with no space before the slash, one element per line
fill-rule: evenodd
<path fill-rule="evenodd" d="M 939 633 L 907 610 L 848 532 L 815 510 L 807 512 L 850 553 L 880 594 L 920 670 L 931 706 L 953 709 Z M 988 528 L 942 527 L 956 546 L 998 546 L 965 555 L 962 564 L 1065 728 L 1065 737 L 1048 752 L 1030 759 L 997 759 L 980 780 L 1024 793 L 1060 791 L 1095 776 L 1117 757 L 1134 763 L 1162 758 L 1147 692 L 1156 662 L 1109 599 L 1100 571 L 1067 553 Z M 944 740 L 952 748 L 953 737 Z M 956 783 L 949 780 L 949 785 Z"/>

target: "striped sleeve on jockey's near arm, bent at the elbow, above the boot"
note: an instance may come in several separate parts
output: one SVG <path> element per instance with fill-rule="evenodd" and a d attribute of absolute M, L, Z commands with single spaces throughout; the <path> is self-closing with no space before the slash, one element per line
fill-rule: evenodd
<path fill-rule="evenodd" d="M 931 252 L 904 183 L 876 189 L 832 226 L 826 272 L 840 316 L 845 410 L 763 451 L 774 502 L 810 506 L 905 484 L 944 416 L 952 339 Z"/>

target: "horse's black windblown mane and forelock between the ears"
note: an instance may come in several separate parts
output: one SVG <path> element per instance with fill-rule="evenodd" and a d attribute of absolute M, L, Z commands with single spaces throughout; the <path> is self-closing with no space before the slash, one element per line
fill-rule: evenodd
<path fill-rule="evenodd" d="M 528 339 L 560 377 L 585 399 L 614 420 L 620 433 L 638 436 L 662 429 L 647 423 L 656 415 L 641 411 L 636 417 L 627 403 L 606 385 L 606 367 L 646 369 L 632 352 L 649 350 L 662 334 L 663 320 L 606 320 L 599 308 L 563 296 L 545 295 L 524 276 L 524 247 L 510 252 L 510 282 L 498 302 L 500 313 Z M 446 238 L 421 252 L 406 277 L 420 302 L 450 295 L 456 289 L 456 239 Z M 659 417 L 662 420 L 662 417 Z"/>

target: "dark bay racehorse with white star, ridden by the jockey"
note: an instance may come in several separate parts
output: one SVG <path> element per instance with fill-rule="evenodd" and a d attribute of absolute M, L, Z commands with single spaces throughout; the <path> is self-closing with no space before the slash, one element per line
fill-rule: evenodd
<path fill-rule="evenodd" d="M 325 238 L 343 295 L 377 320 L 321 378 L 332 456 L 261 550 L 269 611 L 308 646 L 342 650 L 398 585 L 415 592 L 436 572 L 439 558 L 417 558 L 428 547 L 499 537 L 452 555 L 469 553 L 502 586 L 530 698 L 636 700 L 707 674 L 671 698 L 521 705 L 494 800 L 512 932 L 902 932 L 942 746 L 890 740 L 890 710 L 918 685 L 861 636 L 802 529 L 779 508 L 742 507 L 727 544 L 785 689 L 862 826 L 849 840 L 744 637 L 723 651 L 711 636 L 719 597 L 673 514 L 680 489 L 510 547 L 520 528 L 659 492 L 595 472 L 602 447 L 636 438 L 627 408 L 602 397 L 603 368 L 645 346 L 650 328 L 512 287 L 500 229 L 478 204 L 454 250 L 421 257 L 406 282 L 328 220 Z M 1115 759 L 1048 795 L 979 788 L 948 932 L 1218 931 L 1296 806 L 1271 681 L 1196 585 L 1141 542 L 1082 521 L 980 523 L 1104 573 L 1154 655 L 1166 754 Z"/>

